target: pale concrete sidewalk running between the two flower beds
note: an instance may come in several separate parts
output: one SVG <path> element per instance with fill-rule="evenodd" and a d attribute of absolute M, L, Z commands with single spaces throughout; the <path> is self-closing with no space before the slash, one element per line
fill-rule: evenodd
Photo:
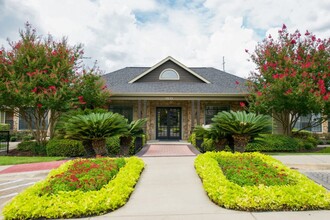
<path fill-rule="evenodd" d="M 195 157 L 144 157 L 141 179 L 128 203 L 90 219 L 325 220 L 330 211 L 242 212 L 212 203 L 194 169 Z"/>

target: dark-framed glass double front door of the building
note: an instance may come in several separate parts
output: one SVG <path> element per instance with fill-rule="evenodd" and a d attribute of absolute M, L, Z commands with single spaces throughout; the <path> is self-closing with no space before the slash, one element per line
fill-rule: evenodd
<path fill-rule="evenodd" d="M 181 108 L 156 108 L 156 139 L 181 139 Z"/>

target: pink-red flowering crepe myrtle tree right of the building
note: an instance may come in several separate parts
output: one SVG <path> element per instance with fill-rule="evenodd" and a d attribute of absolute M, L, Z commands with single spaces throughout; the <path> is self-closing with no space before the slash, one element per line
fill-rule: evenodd
<path fill-rule="evenodd" d="M 326 120 L 330 112 L 330 38 L 320 39 L 308 31 L 289 33 L 283 25 L 277 39 L 269 35 L 249 55 L 257 67 L 248 82 L 250 111 L 272 115 L 286 135 L 291 135 L 301 116 L 322 115 L 307 127 Z"/>

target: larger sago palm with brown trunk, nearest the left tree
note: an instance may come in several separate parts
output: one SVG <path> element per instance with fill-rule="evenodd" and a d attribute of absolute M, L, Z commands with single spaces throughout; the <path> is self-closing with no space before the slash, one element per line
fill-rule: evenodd
<path fill-rule="evenodd" d="M 97 155 L 107 154 L 105 144 L 107 137 L 127 132 L 125 118 L 112 112 L 72 116 L 63 127 L 65 138 L 90 141 Z"/>

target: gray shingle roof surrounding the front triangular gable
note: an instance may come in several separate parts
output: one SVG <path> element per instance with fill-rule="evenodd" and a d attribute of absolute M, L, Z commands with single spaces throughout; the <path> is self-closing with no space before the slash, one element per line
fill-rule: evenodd
<path fill-rule="evenodd" d="M 190 68 L 210 81 L 203 82 L 135 82 L 128 83 L 149 67 L 126 67 L 103 75 L 112 94 L 245 94 L 245 79 L 210 67 Z M 239 82 L 239 85 L 236 84 Z"/>

